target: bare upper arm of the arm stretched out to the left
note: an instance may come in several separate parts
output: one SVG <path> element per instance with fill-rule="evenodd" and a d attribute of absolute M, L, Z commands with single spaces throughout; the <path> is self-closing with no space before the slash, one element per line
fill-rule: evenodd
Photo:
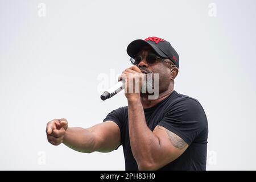
<path fill-rule="evenodd" d="M 118 125 L 113 121 L 106 121 L 88 129 L 95 137 L 96 151 L 110 152 L 121 143 Z"/>

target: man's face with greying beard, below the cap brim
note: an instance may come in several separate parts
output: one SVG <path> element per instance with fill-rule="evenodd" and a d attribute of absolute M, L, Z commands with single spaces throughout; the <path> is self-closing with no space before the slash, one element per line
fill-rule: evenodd
<path fill-rule="evenodd" d="M 155 53 L 150 46 L 143 47 L 141 51 L 139 51 L 138 55 L 142 56 L 142 60 L 137 66 L 141 69 L 142 73 L 152 73 L 153 82 L 154 74 L 159 74 L 159 93 L 162 93 L 168 89 L 170 82 L 172 81 L 170 64 L 160 59 L 157 59 L 155 63 L 152 64 L 147 63 L 146 57 L 149 53 Z M 167 59 L 166 61 L 170 60 Z"/>

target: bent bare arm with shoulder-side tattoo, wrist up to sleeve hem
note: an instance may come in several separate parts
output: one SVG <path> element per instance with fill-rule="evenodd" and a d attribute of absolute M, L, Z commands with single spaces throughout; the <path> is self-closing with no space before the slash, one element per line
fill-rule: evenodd
<path fill-rule="evenodd" d="M 131 150 L 139 170 L 157 170 L 177 159 L 188 144 L 162 126 L 151 131 L 139 97 L 128 100 Z"/>

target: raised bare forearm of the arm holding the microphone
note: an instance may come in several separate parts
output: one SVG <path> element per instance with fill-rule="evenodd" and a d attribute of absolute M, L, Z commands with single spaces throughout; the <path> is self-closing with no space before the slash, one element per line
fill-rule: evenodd
<path fill-rule="evenodd" d="M 154 162 L 154 150 L 160 147 L 159 140 L 146 124 L 140 100 L 128 101 L 128 117 L 131 150 L 139 169 L 142 169 L 145 163 Z"/>

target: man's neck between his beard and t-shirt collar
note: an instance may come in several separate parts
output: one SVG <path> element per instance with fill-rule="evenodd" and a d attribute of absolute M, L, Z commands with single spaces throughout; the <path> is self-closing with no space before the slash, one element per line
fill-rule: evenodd
<path fill-rule="evenodd" d="M 143 109 L 150 108 L 159 102 L 163 101 L 166 97 L 170 96 L 170 94 L 174 91 L 174 87 L 171 86 L 166 91 L 159 94 L 159 97 L 156 100 L 148 100 L 148 95 L 141 96 L 141 104 Z"/>

